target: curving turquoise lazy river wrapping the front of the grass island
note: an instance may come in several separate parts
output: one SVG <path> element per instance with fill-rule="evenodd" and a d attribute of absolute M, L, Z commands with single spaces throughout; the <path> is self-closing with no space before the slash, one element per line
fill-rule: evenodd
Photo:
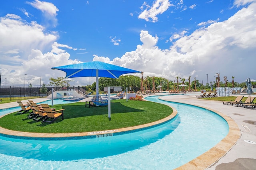
<path fill-rule="evenodd" d="M 228 124 L 212 111 L 166 102 L 172 121 L 143 131 L 95 139 L 28 140 L 0 136 L 1 169 L 173 169 L 212 148 Z M 214 128 L 212 128 L 214 127 Z"/>

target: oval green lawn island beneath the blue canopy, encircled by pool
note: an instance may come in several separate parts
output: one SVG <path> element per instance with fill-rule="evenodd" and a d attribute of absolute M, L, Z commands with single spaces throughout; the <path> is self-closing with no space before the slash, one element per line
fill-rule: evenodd
<path fill-rule="evenodd" d="M 148 101 L 112 100 L 111 120 L 108 119 L 108 106 L 85 107 L 84 102 L 54 105 L 65 109 L 64 120 L 54 123 L 41 123 L 28 119 L 28 113 L 11 113 L 0 119 L 0 126 L 14 131 L 35 133 L 77 133 L 119 129 L 150 123 L 172 113 L 169 106 Z"/>

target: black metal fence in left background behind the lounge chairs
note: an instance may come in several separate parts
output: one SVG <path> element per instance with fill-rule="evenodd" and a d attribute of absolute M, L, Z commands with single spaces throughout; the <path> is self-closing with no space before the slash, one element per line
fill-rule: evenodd
<path fill-rule="evenodd" d="M 47 93 L 42 94 L 40 87 L 10 86 L 0 88 L 0 99 L 4 100 L 26 100 L 29 98 L 47 97 L 51 94 L 52 88 L 56 90 L 76 90 L 82 96 L 88 94 L 86 88 L 80 86 L 46 87 Z"/>

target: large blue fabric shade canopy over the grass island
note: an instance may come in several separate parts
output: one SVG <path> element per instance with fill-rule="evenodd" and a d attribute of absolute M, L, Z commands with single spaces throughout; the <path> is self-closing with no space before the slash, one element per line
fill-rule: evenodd
<path fill-rule="evenodd" d="M 62 70 L 66 72 L 66 78 L 73 77 L 98 77 L 118 78 L 122 74 L 140 72 L 113 64 L 103 63 L 101 61 L 91 61 L 86 63 L 72 64 L 66 66 L 53 67 L 53 70 Z"/>

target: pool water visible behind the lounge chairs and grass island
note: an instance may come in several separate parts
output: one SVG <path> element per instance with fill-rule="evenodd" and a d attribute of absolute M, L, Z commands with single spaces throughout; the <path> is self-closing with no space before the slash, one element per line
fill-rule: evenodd
<path fill-rule="evenodd" d="M 38 104 L 48 104 L 48 105 L 52 105 L 52 100 L 46 100 L 45 102 L 40 102 Z M 54 99 L 53 100 L 53 104 L 68 104 L 68 103 L 74 103 L 74 102 L 70 102 L 70 101 L 65 101 L 62 99 Z M 0 109 L 0 115 L 5 115 L 7 113 L 13 113 L 15 111 L 19 111 L 20 107 L 11 107 L 11 108 L 6 108 L 6 109 Z"/>

